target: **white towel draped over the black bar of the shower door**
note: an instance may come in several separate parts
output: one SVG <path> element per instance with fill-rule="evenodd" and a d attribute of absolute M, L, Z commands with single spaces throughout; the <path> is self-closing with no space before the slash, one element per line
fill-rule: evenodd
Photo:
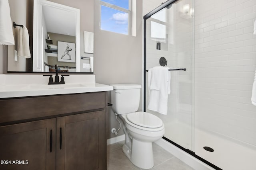
<path fill-rule="evenodd" d="M 148 109 L 164 115 L 168 110 L 171 74 L 168 67 L 157 66 L 148 70 Z"/>

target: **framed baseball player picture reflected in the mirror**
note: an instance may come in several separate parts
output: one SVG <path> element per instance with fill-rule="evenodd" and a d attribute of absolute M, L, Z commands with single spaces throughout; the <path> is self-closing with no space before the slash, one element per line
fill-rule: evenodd
<path fill-rule="evenodd" d="M 58 41 L 58 61 L 76 63 L 76 44 Z"/>

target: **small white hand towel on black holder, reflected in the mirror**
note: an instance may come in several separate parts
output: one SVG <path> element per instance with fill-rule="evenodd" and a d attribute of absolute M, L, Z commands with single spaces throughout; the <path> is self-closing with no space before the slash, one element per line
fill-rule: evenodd
<path fill-rule="evenodd" d="M 19 31 L 18 56 L 30 58 L 28 29 L 23 25 Z"/>

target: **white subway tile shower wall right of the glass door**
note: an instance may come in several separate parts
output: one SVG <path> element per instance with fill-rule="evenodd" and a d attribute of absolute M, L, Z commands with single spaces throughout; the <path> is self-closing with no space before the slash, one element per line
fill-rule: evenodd
<path fill-rule="evenodd" d="M 256 0 L 195 0 L 195 126 L 256 147 Z"/>

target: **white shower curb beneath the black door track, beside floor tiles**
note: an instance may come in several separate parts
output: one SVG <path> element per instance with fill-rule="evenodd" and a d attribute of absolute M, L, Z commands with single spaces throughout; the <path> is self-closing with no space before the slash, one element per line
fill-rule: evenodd
<path fill-rule="evenodd" d="M 184 150 L 179 149 L 178 147 L 172 145 L 164 139 L 160 139 L 155 142 L 157 145 L 165 149 L 166 151 L 173 154 L 175 157 L 180 159 L 182 162 L 185 162 L 188 166 L 191 166 L 195 170 L 214 170 L 214 168 L 205 164 L 204 162 L 198 160 L 194 156 L 188 154 Z"/>

